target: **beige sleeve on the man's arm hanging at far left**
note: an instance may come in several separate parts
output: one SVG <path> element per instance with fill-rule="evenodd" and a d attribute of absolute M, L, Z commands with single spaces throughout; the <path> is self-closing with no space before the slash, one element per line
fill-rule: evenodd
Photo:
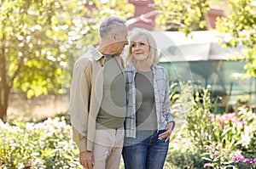
<path fill-rule="evenodd" d="M 88 114 L 90 110 L 91 62 L 80 58 L 73 67 L 73 78 L 70 86 L 69 115 L 73 126 L 73 141 L 79 151 L 86 150 Z"/>

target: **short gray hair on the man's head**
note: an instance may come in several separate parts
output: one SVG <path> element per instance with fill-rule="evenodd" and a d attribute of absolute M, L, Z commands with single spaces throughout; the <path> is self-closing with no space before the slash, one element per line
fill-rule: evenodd
<path fill-rule="evenodd" d="M 113 32 L 119 32 L 125 28 L 125 20 L 117 16 L 109 16 L 102 21 L 100 26 L 100 36 L 108 37 Z"/>

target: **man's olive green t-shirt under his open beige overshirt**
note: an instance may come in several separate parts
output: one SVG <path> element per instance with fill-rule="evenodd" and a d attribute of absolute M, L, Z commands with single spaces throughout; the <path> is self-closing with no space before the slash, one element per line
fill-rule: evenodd
<path fill-rule="evenodd" d="M 113 55 L 103 55 L 103 98 L 96 129 L 119 128 L 123 127 L 125 121 L 125 76 Z"/>

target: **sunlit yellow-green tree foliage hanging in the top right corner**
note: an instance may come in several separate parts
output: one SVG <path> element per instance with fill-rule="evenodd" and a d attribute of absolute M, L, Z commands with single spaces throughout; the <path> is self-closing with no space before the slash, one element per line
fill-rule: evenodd
<path fill-rule="evenodd" d="M 244 47 L 234 59 L 246 63 L 246 77 L 256 77 L 256 6 L 253 0 L 230 0 L 230 4 L 230 14 L 217 20 L 217 29 L 224 35 L 220 42 L 226 47 Z"/>

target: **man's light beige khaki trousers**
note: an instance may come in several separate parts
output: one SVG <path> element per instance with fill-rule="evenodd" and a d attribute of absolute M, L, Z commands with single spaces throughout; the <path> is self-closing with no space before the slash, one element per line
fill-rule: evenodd
<path fill-rule="evenodd" d="M 96 130 L 93 169 L 118 169 L 124 143 L 124 128 Z"/>

